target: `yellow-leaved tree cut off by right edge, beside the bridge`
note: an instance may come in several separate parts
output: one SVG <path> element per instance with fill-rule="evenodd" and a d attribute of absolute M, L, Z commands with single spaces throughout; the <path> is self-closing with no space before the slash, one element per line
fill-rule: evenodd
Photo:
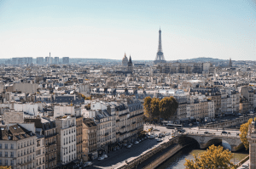
<path fill-rule="evenodd" d="M 256 118 L 254 117 L 254 121 L 256 120 Z M 249 129 L 249 125 L 252 124 L 253 119 L 249 119 L 246 123 L 242 124 L 240 127 L 240 139 L 241 139 L 241 143 L 244 145 L 244 147 L 246 149 L 249 149 L 249 142 L 247 139 L 247 134 L 248 134 L 248 129 Z"/>

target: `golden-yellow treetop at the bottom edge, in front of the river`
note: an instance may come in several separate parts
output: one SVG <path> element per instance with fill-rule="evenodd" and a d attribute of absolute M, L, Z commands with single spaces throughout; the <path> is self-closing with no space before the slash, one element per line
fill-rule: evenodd
<path fill-rule="evenodd" d="M 195 160 L 187 160 L 184 163 L 186 169 L 207 169 L 207 168 L 226 168 L 235 169 L 235 165 L 230 162 L 232 153 L 228 149 L 223 149 L 222 146 L 212 144 L 207 151 L 194 155 Z"/>

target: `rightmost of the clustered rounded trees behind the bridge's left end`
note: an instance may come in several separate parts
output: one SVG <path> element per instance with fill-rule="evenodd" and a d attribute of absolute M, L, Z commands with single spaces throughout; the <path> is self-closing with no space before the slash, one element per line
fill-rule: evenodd
<path fill-rule="evenodd" d="M 159 104 L 160 117 L 164 119 L 169 119 L 172 115 L 176 113 L 177 107 L 177 101 L 172 96 L 161 99 Z"/>

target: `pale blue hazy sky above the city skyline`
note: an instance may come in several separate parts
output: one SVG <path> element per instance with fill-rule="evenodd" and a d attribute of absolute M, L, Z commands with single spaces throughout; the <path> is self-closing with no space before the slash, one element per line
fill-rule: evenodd
<path fill-rule="evenodd" d="M 0 58 L 256 60 L 255 0 L 0 0 Z"/>

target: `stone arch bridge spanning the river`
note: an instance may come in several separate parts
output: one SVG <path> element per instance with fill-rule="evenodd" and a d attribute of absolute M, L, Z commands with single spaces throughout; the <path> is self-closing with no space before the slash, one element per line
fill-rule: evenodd
<path fill-rule="evenodd" d="M 200 149 L 206 149 L 212 144 L 218 144 L 222 141 L 226 141 L 231 146 L 231 151 L 237 151 L 243 147 L 240 137 L 232 137 L 227 135 L 215 135 L 215 134 L 197 134 L 197 133 L 183 133 L 179 134 L 178 143 L 188 144 L 189 142 L 200 145 Z"/>

